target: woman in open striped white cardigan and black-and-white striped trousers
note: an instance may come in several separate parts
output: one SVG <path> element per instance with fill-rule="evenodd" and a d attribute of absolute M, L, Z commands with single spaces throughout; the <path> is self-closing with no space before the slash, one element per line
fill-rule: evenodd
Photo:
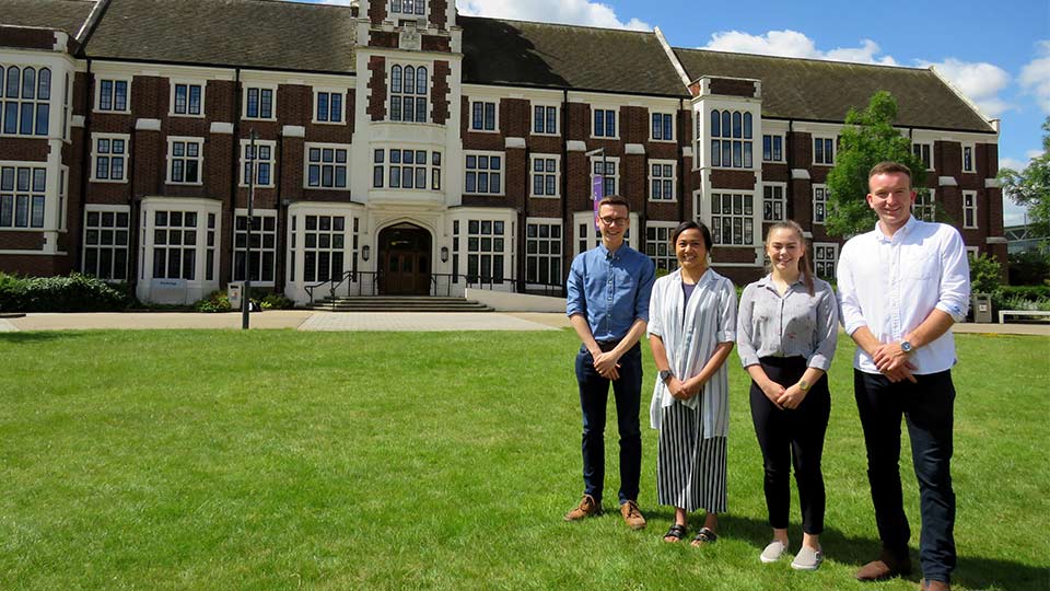
<path fill-rule="evenodd" d="M 675 508 L 665 542 L 686 536 L 691 511 L 704 509 L 693 546 L 718 540 L 718 513 L 725 512 L 725 453 L 728 434 L 728 375 L 725 360 L 736 340 L 736 291 L 708 267 L 711 232 L 687 221 L 672 245 L 678 270 L 653 286 L 649 343 L 660 378 L 650 422 L 660 430 L 656 493 Z"/>

